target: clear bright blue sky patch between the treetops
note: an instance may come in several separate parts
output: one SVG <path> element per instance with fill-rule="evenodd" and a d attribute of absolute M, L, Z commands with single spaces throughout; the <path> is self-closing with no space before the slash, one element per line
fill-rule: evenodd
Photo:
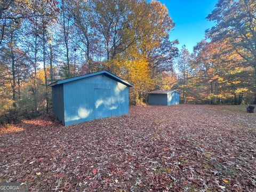
<path fill-rule="evenodd" d="M 179 40 L 179 48 L 186 45 L 192 52 L 196 43 L 204 38 L 204 31 L 214 25 L 205 18 L 212 12 L 217 0 L 160 0 L 160 2 L 165 4 L 175 23 L 170 38 Z"/>

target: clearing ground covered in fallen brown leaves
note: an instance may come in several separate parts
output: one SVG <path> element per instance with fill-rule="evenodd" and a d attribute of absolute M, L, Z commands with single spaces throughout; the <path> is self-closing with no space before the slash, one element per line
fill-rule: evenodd
<path fill-rule="evenodd" d="M 218 106 L 131 107 L 68 127 L 0 131 L 0 181 L 31 191 L 255 191 L 256 116 Z"/>

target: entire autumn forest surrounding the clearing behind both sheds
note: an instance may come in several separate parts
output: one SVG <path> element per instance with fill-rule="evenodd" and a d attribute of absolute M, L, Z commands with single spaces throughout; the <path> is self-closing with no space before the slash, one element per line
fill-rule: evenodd
<path fill-rule="evenodd" d="M 206 19 L 189 53 L 157 1 L 2 0 L 0 123 L 48 113 L 48 84 L 103 69 L 134 84 L 133 105 L 171 89 L 181 103 L 256 103 L 255 1 L 220 0 Z"/>

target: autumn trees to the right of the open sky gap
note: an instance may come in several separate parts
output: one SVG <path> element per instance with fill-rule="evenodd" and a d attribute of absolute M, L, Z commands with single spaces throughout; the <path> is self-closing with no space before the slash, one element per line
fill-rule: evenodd
<path fill-rule="evenodd" d="M 219 0 L 193 53 L 182 47 L 178 69 L 184 103 L 256 103 L 256 2 Z"/>

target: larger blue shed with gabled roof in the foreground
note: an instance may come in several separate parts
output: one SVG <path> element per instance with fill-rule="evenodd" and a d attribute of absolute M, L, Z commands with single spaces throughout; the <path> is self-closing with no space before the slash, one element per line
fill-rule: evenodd
<path fill-rule="evenodd" d="M 109 71 L 63 79 L 52 87 L 53 113 L 71 125 L 129 113 L 129 87 L 133 85 Z"/>

